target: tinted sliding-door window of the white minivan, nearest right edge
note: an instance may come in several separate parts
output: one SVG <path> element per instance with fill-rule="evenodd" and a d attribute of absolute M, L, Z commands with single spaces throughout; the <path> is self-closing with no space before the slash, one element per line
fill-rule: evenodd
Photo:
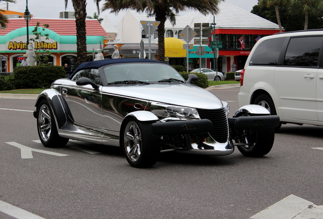
<path fill-rule="evenodd" d="M 291 38 L 286 50 L 284 65 L 317 67 L 323 36 Z"/>

